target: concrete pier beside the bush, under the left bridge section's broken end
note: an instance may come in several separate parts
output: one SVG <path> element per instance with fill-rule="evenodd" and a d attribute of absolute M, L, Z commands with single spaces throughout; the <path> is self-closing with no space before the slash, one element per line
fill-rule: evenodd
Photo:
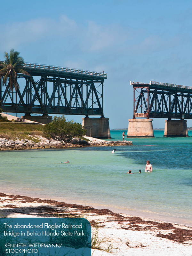
<path fill-rule="evenodd" d="M 87 130 L 86 136 L 97 139 L 111 139 L 109 118 L 83 117 L 82 126 Z"/>

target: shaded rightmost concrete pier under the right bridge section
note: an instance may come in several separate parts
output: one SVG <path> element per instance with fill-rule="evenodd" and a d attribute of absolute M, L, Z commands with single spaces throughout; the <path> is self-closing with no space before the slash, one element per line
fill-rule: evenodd
<path fill-rule="evenodd" d="M 165 120 L 163 137 L 188 137 L 187 120 Z"/>

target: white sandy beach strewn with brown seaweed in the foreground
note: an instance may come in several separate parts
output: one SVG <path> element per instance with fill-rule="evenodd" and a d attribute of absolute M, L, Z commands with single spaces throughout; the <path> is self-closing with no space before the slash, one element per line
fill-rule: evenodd
<path fill-rule="evenodd" d="M 84 217 L 91 223 L 92 235 L 98 232 L 101 255 L 179 255 L 191 256 L 192 227 L 118 214 L 78 204 L 0 193 L 2 217 Z"/>

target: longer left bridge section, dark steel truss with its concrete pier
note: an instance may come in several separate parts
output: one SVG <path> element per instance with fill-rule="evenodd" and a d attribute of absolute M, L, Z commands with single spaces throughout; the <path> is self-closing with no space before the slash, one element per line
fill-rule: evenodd
<path fill-rule="evenodd" d="M 17 91 L 3 87 L 0 80 L 0 107 L 4 112 L 25 113 L 23 118 L 44 124 L 51 122 L 51 114 L 83 115 L 87 136 L 91 132 L 92 137 L 110 138 L 109 118 L 103 113 L 106 73 L 33 63 L 24 63 L 23 69 L 30 76 L 17 74 Z"/>

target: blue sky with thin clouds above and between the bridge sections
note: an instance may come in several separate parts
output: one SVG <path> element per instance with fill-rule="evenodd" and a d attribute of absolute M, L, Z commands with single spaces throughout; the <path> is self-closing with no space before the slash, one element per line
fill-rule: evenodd
<path fill-rule="evenodd" d="M 0 59 L 14 48 L 26 62 L 108 73 L 111 129 L 133 116 L 130 80 L 192 85 L 191 0 L 9 0 L 0 8 Z M 164 124 L 153 119 L 154 128 Z"/>

